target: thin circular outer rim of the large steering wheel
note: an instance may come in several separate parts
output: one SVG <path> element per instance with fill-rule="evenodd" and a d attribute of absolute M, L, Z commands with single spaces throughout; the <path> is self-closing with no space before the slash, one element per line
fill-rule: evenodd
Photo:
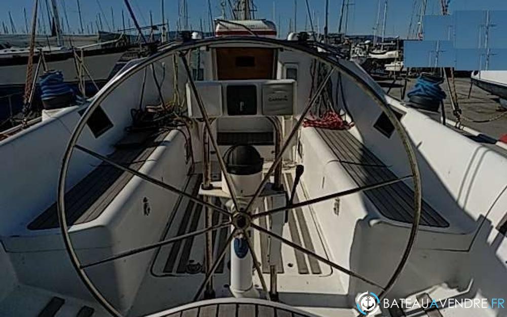
<path fill-rule="evenodd" d="M 172 46 L 172 47 L 166 47 L 165 49 L 162 49 L 161 52 L 153 55 L 152 57 L 148 58 L 147 60 L 144 60 L 140 62 L 139 64 L 132 66 L 128 71 L 126 71 L 123 74 L 120 74 L 119 76 L 115 77 L 111 82 L 107 83 L 101 91 L 97 93 L 97 95 L 94 97 L 91 104 L 88 106 L 85 113 L 82 115 L 80 121 L 76 125 L 73 133 L 71 134 L 61 165 L 60 174 L 59 174 L 59 181 L 58 181 L 58 193 L 57 193 L 57 209 L 58 209 L 58 219 L 60 223 L 60 231 L 64 240 L 66 251 L 70 257 L 70 260 L 73 264 L 73 267 L 77 271 L 79 277 L 85 284 L 85 286 L 88 288 L 90 293 L 93 295 L 93 297 L 112 315 L 117 317 L 122 317 L 122 314 L 101 294 L 101 292 L 95 287 L 92 280 L 89 278 L 88 274 L 85 272 L 85 268 L 88 266 L 84 266 L 81 264 L 80 259 L 78 258 L 76 251 L 74 249 L 73 242 L 70 239 L 70 234 L 68 231 L 67 226 L 67 217 L 65 212 L 65 180 L 67 176 L 68 166 L 70 162 L 70 158 L 72 154 L 74 153 L 74 149 L 79 147 L 77 145 L 79 136 L 81 135 L 88 119 L 93 114 L 94 110 L 99 107 L 101 102 L 120 84 L 122 84 L 127 79 L 131 78 L 133 75 L 137 74 L 139 71 L 144 69 L 145 67 L 150 66 L 151 64 L 166 58 L 172 54 L 177 54 L 180 52 L 186 52 L 192 49 L 196 49 L 202 46 L 208 46 L 208 45 L 220 45 L 220 44 L 258 44 L 258 45 L 267 45 L 272 46 L 273 48 L 278 49 L 290 49 L 295 50 L 300 53 L 306 53 L 316 60 L 323 62 L 325 64 L 331 65 L 333 69 L 336 69 L 341 75 L 346 76 L 349 80 L 354 82 L 356 85 L 358 85 L 360 88 L 363 89 L 382 109 L 382 111 L 387 115 L 389 121 L 391 124 L 393 124 L 396 132 L 401 138 L 402 144 L 404 146 L 405 152 L 407 154 L 407 158 L 410 164 L 410 169 L 412 172 L 412 180 L 414 184 L 414 220 L 411 226 L 410 235 L 406 244 L 406 248 L 404 250 L 403 256 L 397 265 L 396 269 L 394 270 L 393 274 L 388 280 L 388 283 L 385 287 L 381 287 L 382 291 L 379 294 L 379 297 L 382 298 L 385 296 L 387 292 L 393 287 L 396 279 L 400 276 L 403 268 L 405 267 L 409 255 L 413 249 L 415 238 L 417 235 L 417 230 L 419 227 L 419 221 L 420 221 L 420 215 L 421 215 L 421 180 L 420 180 L 420 174 L 419 169 L 417 166 L 417 160 L 416 156 L 412 147 L 412 144 L 410 143 L 410 139 L 408 137 L 408 134 L 405 130 L 405 128 L 401 125 L 401 123 L 397 120 L 395 114 L 391 110 L 391 106 L 387 103 L 385 98 L 380 95 L 377 91 L 375 91 L 370 85 L 361 77 L 350 71 L 348 68 L 343 66 L 340 63 L 339 59 L 335 59 L 333 57 L 327 56 L 327 55 L 321 55 L 313 48 L 303 46 L 297 43 L 288 42 L 288 41 L 280 41 L 280 40 L 274 40 L 274 39 L 268 39 L 268 38 L 252 38 L 252 37 L 234 37 L 234 38 L 213 38 L 213 39 L 205 39 L 205 40 L 198 40 L 190 43 L 183 43 L 180 45 Z M 313 43 L 314 46 L 320 47 L 320 48 L 326 48 L 325 46 L 319 44 L 319 43 Z M 227 223 L 227 225 L 230 225 L 232 222 Z M 259 230 L 257 225 L 249 222 L 249 224 L 246 226 Z M 211 228 L 207 228 L 211 229 Z M 235 228 L 231 235 L 229 236 L 229 239 L 234 236 L 238 231 L 242 232 L 245 230 L 245 227 L 243 226 L 242 229 Z M 261 231 L 261 230 L 259 230 Z M 267 232 L 265 232 L 268 234 Z M 272 234 L 272 233 L 271 233 Z M 273 235 L 272 235 L 273 236 Z M 276 236 L 273 236 L 275 238 L 279 238 Z M 255 252 L 253 251 L 251 241 L 247 239 L 250 254 L 253 258 L 256 258 Z M 226 244 L 227 246 L 227 244 Z M 294 247 L 294 246 L 293 246 Z M 227 247 L 225 248 L 224 252 L 222 252 L 221 256 L 225 256 L 225 253 L 227 251 Z M 306 250 L 308 251 L 308 250 Z M 309 251 L 308 251 L 309 252 Z M 322 259 L 319 259 L 322 260 Z M 215 261 L 216 263 L 220 262 L 220 259 L 217 259 Z M 258 272 L 258 275 L 261 279 L 261 283 L 263 284 L 263 288 L 266 290 L 267 287 L 265 285 L 264 278 L 262 276 L 262 272 L 258 268 L 258 263 L 256 263 L 256 270 Z M 333 263 L 334 264 L 334 263 Z M 336 264 L 335 264 L 336 265 Z M 345 272 L 350 273 L 350 272 Z M 349 274 L 350 275 L 350 274 Z M 206 275 L 206 279 L 210 278 L 212 274 Z M 354 276 L 354 275 L 351 275 Z M 360 278 L 358 276 L 355 276 L 357 278 Z M 371 281 L 368 281 L 368 283 L 371 284 Z M 204 285 L 205 283 L 203 283 Z M 380 287 L 380 286 L 379 286 Z M 200 293 L 198 292 L 197 295 Z M 197 296 L 196 296 L 197 297 Z"/>

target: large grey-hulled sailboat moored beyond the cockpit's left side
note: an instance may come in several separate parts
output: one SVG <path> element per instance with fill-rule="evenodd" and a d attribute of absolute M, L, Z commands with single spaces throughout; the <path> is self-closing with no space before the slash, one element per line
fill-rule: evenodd
<path fill-rule="evenodd" d="M 4 48 L 0 49 L 0 124 L 7 119 L 12 120 L 21 111 L 26 101 L 23 94 L 27 71 L 33 67 L 31 63 L 40 69 L 39 73 L 34 72 L 39 75 L 49 70 L 61 71 L 64 83 L 89 97 L 129 59 L 137 56 L 136 53 L 127 54 L 137 50 L 139 45 L 124 33 L 63 34 L 56 0 L 51 0 L 51 8 L 52 37 L 37 37 L 35 34 L 30 34 L 28 38 L 26 34 L 0 36 L 0 41 L 5 41 Z M 32 33 L 37 24 L 37 0 L 33 9 Z M 32 51 L 30 46 L 33 46 Z M 35 95 L 39 95 L 38 90 Z"/>

